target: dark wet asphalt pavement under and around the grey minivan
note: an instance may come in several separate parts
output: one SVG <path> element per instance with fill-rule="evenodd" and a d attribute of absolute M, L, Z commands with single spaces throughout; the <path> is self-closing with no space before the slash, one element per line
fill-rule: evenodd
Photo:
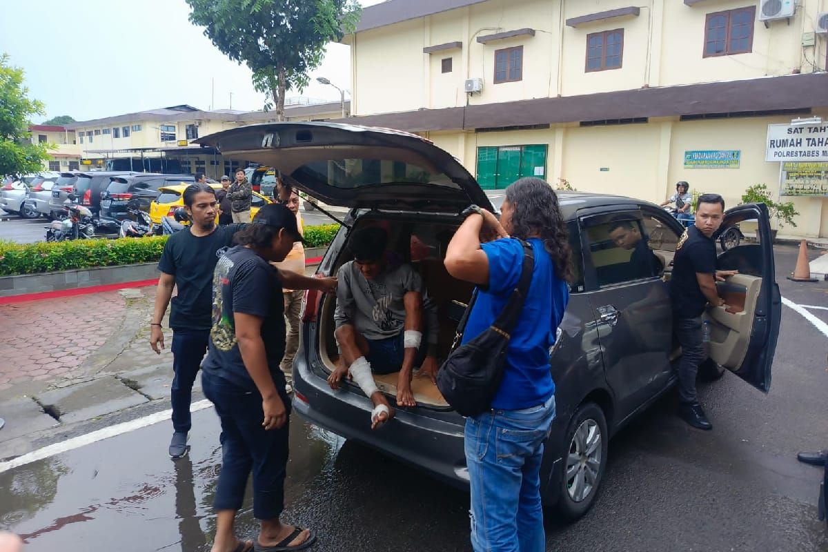
<path fill-rule="evenodd" d="M 784 280 L 795 260 L 795 247 L 777 247 L 782 295 L 828 305 L 828 283 Z M 811 312 L 828 319 L 828 311 Z M 828 530 L 816 520 L 821 471 L 795 459 L 828 445 L 828 337 L 787 307 L 782 317 L 767 396 L 729 374 L 700 384 L 711 432 L 676 419 L 674 393 L 662 397 L 613 439 L 595 507 L 571 526 L 550 512 L 546 549 L 828 550 Z M 165 408 L 147 399 L 39 429 L 31 448 Z M 209 550 L 218 420 L 211 408 L 194 414 L 190 456 L 180 461 L 166 456 L 170 434 L 164 420 L 0 473 L 0 527 L 23 535 L 27 552 Z M 467 510 L 466 492 L 292 417 L 284 518 L 319 534 L 311 550 L 470 550 Z M 248 492 L 238 534 L 255 530 Z"/>

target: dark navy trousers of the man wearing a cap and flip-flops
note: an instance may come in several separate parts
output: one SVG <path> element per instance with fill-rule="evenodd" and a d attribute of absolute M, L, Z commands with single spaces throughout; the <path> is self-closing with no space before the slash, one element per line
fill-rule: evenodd
<path fill-rule="evenodd" d="M 276 383 L 277 389 L 285 388 L 283 379 Z M 291 401 L 286 393 L 279 391 L 287 420 L 277 430 L 265 430 L 262 396 L 258 391 L 248 391 L 209 372 L 202 373 L 201 386 L 221 420 L 221 471 L 214 508 L 217 511 L 241 509 L 244 490 L 253 472 L 253 516 L 258 520 L 278 517 L 285 509 Z"/>

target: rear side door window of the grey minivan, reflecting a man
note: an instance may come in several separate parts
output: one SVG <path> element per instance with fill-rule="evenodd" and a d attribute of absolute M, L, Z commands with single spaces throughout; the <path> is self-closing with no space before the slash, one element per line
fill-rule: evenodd
<path fill-rule="evenodd" d="M 659 276 L 662 260 L 647 244 L 640 220 L 615 220 L 585 228 L 599 286 Z"/>

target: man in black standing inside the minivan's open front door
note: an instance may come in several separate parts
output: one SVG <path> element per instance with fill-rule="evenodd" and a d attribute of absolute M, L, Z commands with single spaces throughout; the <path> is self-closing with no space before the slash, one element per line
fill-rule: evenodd
<path fill-rule="evenodd" d="M 722 306 L 716 281 L 736 271 L 716 271 L 716 245 L 713 234 L 724 218 L 724 199 L 719 194 L 703 194 L 696 204 L 696 225 L 687 228 L 676 245 L 670 278 L 673 331 L 681 344 L 678 367 L 679 406 L 682 420 L 700 430 L 712 430 L 696 397 L 696 374 L 705 359 L 702 320 L 705 307 Z"/>

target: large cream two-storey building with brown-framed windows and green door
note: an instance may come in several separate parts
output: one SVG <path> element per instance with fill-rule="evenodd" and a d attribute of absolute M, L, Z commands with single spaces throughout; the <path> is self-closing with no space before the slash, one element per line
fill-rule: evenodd
<path fill-rule="evenodd" d="M 732 206 L 749 185 L 778 195 L 783 169 L 828 179 L 828 157 L 765 161 L 768 125 L 828 120 L 820 4 L 391 0 L 344 40 L 351 111 L 428 137 L 487 188 L 537 175 L 661 202 L 686 180 Z M 828 236 L 825 193 L 782 199 L 800 213 L 783 233 Z"/>

